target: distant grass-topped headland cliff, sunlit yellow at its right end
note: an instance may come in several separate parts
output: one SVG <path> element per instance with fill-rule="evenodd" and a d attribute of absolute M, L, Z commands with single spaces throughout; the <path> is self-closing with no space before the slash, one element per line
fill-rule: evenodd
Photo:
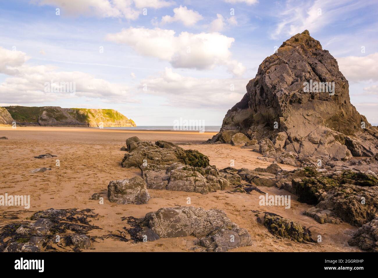
<path fill-rule="evenodd" d="M 9 112 L 9 116 L 17 124 L 23 126 L 136 126 L 133 120 L 113 109 L 61 108 L 58 106 L 8 106 L 3 109 Z"/>

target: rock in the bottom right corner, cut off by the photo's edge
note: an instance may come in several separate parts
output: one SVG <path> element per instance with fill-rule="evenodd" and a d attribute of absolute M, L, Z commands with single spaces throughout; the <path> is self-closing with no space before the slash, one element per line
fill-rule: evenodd
<path fill-rule="evenodd" d="M 364 251 L 378 252 L 378 218 L 362 225 L 348 244 L 358 246 Z"/>

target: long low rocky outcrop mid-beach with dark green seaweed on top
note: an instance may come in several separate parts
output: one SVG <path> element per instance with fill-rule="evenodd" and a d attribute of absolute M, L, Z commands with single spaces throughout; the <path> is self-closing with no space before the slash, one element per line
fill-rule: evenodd
<path fill-rule="evenodd" d="M 129 152 L 122 166 L 138 167 L 150 189 L 166 189 L 208 193 L 223 190 L 239 180 L 209 165 L 209 158 L 195 150 L 184 150 L 167 141 L 141 141 L 138 137 L 126 140 Z"/>

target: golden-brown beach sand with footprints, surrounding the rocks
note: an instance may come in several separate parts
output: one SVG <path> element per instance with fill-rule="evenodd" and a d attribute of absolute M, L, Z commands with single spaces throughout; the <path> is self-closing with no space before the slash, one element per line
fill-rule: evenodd
<path fill-rule="evenodd" d="M 19 211 L 19 217 L 24 219 L 36 211 L 48 208 L 91 208 L 99 214 L 98 219 L 91 223 L 102 230 L 93 230 L 90 235 L 105 235 L 124 231 L 128 225 L 121 217 L 143 217 L 149 211 L 161 207 L 186 206 L 187 197 L 191 197 L 191 205 L 206 210 L 218 208 L 242 228 L 246 228 L 252 236 L 253 245 L 240 247 L 231 252 L 327 252 L 355 251 L 347 240 L 356 227 L 349 224 L 319 224 L 311 217 L 302 213 L 309 205 L 296 201 L 296 196 L 277 188 L 259 187 L 268 194 L 291 195 L 291 208 L 260 207 L 260 193 L 251 194 L 226 193 L 217 191 L 202 195 L 181 191 L 166 191 L 149 189 L 152 199 L 146 205 L 117 205 L 107 199 L 107 185 L 111 180 L 125 179 L 140 175 L 139 169 L 122 168 L 120 162 L 125 152 L 119 151 L 124 146 L 125 139 L 138 136 L 141 140 L 167 140 L 175 143 L 200 143 L 211 138 L 215 132 L 169 131 L 169 130 L 113 130 L 91 129 L 78 127 L 17 127 L 0 128 L 0 195 L 30 195 L 31 207 L 28 210 L 20 207 L 0 207 L 0 214 L 6 211 Z M 210 163 L 218 168 L 229 166 L 230 160 L 235 161 L 235 168 L 266 167 L 270 163 L 258 160 L 258 153 L 248 149 L 240 149 L 228 144 L 218 145 L 182 145 L 184 149 L 197 149 L 208 155 Z M 36 155 L 50 153 L 57 157 L 37 159 Z M 60 160 L 60 167 L 56 165 Z M 51 166 L 51 171 L 32 174 L 30 171 L 40 167 Z M 291 166 L 281 165 L 284 169 Z M 88 198 L 96 192 L 104 192 L 104 204 Z M 277 238 L 259 224 L 253 210 L 269 211 L 280 216 L 298 221 L 309 227 L 313 235 L 322 236 L 319 244 L 300 244 L 290 239 Z M 0 217 L 0 227 L 15 220 L 4 220 Z M 115 239 L 97 239 L 91 249 L 93 251 L 190 251 L 194 237 L 167 238 L 153 242 L 133 243 L 121 242 Z"/>

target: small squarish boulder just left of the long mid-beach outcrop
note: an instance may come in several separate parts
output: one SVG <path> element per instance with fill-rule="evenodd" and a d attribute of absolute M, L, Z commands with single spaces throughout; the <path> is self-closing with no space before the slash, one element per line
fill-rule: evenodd
<path fill-rule="evenodd" d="M 150 199 L 146 182 L 141 177 L 131 179 L 112 180 L 108 185 L 110 202 L 118 204 L 145 204 Z"/>

